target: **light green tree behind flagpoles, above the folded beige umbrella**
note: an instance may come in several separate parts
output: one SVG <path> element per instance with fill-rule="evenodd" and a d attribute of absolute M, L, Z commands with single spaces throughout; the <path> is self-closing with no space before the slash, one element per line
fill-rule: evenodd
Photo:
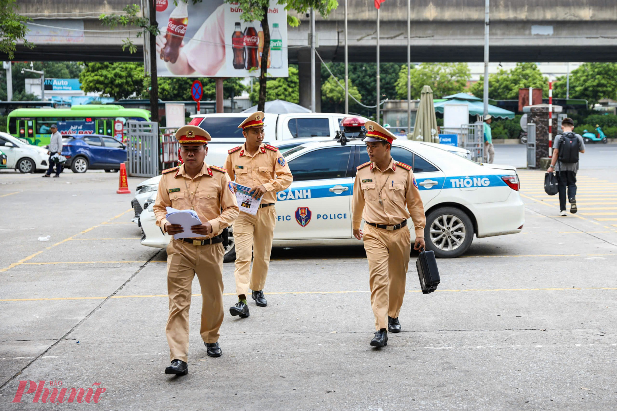
<path fill-rule="evenodd" d="M 411 71 L 412 99 L 420 99 L 423 86 L 431 86 L 436 99 L 462 92 L 470 78 L 466 63 L 421 63 Z M 406 100 L 407 65 L 400 68 L 395 87 L 399 99 Z"/>

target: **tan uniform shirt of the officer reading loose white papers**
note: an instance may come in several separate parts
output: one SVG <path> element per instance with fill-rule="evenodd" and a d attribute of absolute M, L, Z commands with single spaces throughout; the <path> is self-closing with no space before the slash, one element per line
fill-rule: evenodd
<path fill-rule="evenodd" d="M 225 227 L 231 226 L 240 212 L 229 182 L 225 169 L 208 166 L 205 161 L 193 179 L 184 171 L 184 165 L 177 171 L 163 174 L 154 202 L 156 225 L 164 229 L 167 222 L 165 207 L 190 210 L 193 206 L 202 223 L 212 224 L 212 234 L 199 238 L 216 237 Z"/>

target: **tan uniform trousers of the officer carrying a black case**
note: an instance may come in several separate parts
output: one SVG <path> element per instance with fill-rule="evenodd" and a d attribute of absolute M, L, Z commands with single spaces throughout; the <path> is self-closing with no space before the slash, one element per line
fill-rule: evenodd
<path fill-rule="evenodd" d="M 399 317 L 405 296 L 411 238 L 407 227 L 388 231 L 364 225 L 364 249 L 368 259 L 371 306 L 375 329 L 387 328 L 387 316 Z"/>

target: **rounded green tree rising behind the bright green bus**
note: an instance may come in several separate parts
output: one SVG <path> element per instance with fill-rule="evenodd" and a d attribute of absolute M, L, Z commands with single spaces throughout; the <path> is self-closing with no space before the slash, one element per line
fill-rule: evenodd
<path fill-rule="evenodd" d="M 100 92 L 116 100 L 141 94 L 144 68 L 137 62 L 91 62 L 81 71 L 79 79 L 85 92 Z"/>

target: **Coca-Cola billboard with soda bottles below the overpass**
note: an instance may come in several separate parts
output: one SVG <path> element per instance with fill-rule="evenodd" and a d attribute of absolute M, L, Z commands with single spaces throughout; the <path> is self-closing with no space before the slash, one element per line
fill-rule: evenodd
<path fill-rule="evenodd" d="M 270 0 L 268 75 L 288 76 L 287 12 Z M 242 22 L 238 3 L 156 1 L 160 35 L 157 71 L 162 77 L 259 76 L 263 50 L 260 22 Z"/>

